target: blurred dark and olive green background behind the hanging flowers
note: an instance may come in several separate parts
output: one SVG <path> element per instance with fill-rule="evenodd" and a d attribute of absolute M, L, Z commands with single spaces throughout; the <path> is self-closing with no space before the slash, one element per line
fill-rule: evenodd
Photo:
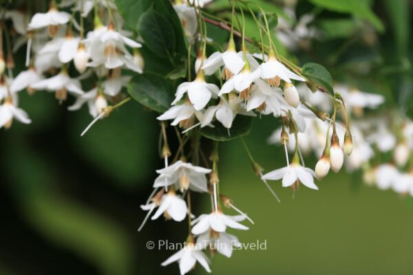
<path fill-rule="evenodd" d="M 367 36 L 368 24 L 341 36 L 332 32 L 297 54 L 297 63 L 326 65 L 336 79 L 368 64 L 368 74 L 346 79 L 385 94 L 388 107 L 402 100 L 408 108 L 409 93 L 399 94 L 401 87 L 411 94 L 412 3 L 369 2 L 381 32 Z M 359 22 L 354 14 L 299 1 L 298 14 L 308 11 Z M 46 92 L 22 93 L 20 101 L 33 123 L 0 133 L 0 274 L 178 274 L 176 264 L 160 267 L 173 251 L 145 244 L 184 241 L 186 223 L 158 219 L 136 231 L 146 214 L 139 206 L 162 167 L 156 113 L 129 102 L 80 137 L 90 120 L 86 109 L 67 112 L 71 102 L 59 106 Z M 271 118 L 257 119 L 245 138 L 266 170 L 285 162 L 282 148 L 266 144 L 276 126 Z M 314 164 L 309 156 L 307 165 Z M 317 192 L 301 188 L 294 199 L 272 181 L 282 199 L 277 203 L 250 167 L 240 140 L 220 144 L 221 192 L 255 221 L 246 232 L 231 232 L 243 243 L 266 241 L 266 250 L 235 251 L 231 259 L 216 254 L 215 274 L 412 274 L 412 199 L 364 186 L 361 175 L 342 171 L 317 183 Z M 195 214 L 209 209 L 205 196 L 194 196 L 193 203 Z"/>

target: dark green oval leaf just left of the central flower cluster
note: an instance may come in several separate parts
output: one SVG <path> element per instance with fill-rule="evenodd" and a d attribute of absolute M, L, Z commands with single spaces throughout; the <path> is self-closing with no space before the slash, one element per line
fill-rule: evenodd
<path fill-rule="evenodd" d="M 140 104 L 163 113 L 169 109 L 175 87 L 155 74 L 138 74 L 127 85 L 127 92 Z"/>

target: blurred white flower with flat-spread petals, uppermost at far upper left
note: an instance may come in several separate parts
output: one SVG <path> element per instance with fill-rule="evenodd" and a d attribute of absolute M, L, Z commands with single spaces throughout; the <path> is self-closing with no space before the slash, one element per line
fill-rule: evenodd
<path fill-rule="evenodd" d="M 49 25 L 63 25 L 70 20 L 70 14 L 59 12 L 56 8 L 50 8 L 46 13 L 36 13 L 28 25 L 28 30 L 35 30 Z"/>

